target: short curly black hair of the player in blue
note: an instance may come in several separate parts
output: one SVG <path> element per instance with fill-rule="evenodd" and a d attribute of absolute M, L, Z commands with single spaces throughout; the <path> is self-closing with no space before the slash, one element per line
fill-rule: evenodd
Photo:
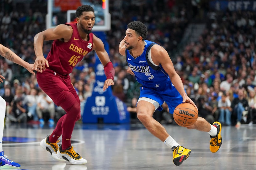
<path fill-rule="evenodd" d="M 130 22 L 127 28 L 134 30 L 144 41 L 147 38 L 147 26 L 139 21 Z"/>

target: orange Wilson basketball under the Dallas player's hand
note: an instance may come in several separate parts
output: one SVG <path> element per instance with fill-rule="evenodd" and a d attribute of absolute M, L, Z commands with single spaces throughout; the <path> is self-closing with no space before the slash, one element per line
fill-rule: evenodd
<path fill-rule="evenodd" d="M 198 112 L 190 103 L 179 104 L 173 112 L 174 121 L 183 127 L 188 127 L 196 123 Z"/>

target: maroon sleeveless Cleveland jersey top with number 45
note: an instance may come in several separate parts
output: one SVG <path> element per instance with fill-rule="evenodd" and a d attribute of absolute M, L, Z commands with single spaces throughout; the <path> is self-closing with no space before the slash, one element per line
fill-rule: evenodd
<path fill-rule="evenodd" d="M 47 60 L 49 69 L 66 75 L 72 72 L 76 64 L 93 49 L 93 33 L 89 34 L 89 40 L 81 39 L 76 23 L 68 24 L 73 28 L 72 37 L 68 42 L 54 40 Z"/>

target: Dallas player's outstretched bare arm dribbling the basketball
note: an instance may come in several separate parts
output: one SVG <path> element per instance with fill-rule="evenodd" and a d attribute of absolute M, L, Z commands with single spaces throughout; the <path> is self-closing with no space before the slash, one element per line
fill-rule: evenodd
<path fill-rule="evenodd" d="M 163 66 L 163 69 L 169 75 L 172 84 L 183 97 L 183 102 L 189 102 L 192 105 L 194 105 L 195 108 L 197 109 L 196 104 L 188 97 L 187 93 L 185 92 L 181 78 L 175 71 L 173 63 L 167 51 L 160 45 L 153 45 L 151 48 L 151 57 L 155 64 L 161 64 Z"/>

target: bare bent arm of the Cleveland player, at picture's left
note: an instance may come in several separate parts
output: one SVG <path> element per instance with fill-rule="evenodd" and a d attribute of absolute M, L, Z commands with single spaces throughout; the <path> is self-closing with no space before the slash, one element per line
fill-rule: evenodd
<path fill-rule="evenodd" d="M 55 28 L 49 28 L 39 32 L 34 37 L 35 63 L 34 68 L 45 70 L 45 64 L 49 67 L 48 61 L 43 57 L 43 41 L 63 39 L 68 42 L 72 36 L 73 29 L 71 26 L 60 24 Z"/>

